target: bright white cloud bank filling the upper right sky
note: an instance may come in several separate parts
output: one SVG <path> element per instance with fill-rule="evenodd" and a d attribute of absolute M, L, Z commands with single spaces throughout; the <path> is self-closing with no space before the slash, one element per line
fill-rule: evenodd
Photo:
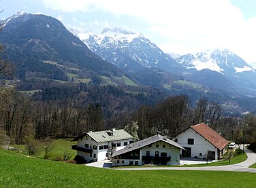
<path fill-rule="evenodd" d="M 150 24 L 148 32 L 165 37 L 165 52 L 185 54 L 224 47 L 247 62 L 256 62 L 256 18 L 244 20 L 229 0 L 42 0 L 53 10 L 133 16 Z M 97 24 L 97 22 L 95 22 Z M 101 23 L 102 24 L 102 23 Z M 136 29 L 140 31 L 140 29 Z"/>

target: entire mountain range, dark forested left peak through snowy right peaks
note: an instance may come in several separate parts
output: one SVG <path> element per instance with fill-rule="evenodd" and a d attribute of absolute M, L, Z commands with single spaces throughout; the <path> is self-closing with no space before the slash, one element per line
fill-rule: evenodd
<path fill-rule="evenodd" d="M 21 80 L 145 86 L 223 104 L 256 96 L 255 69 L 227 49 L 165 54 L 142 33 L 67 30 L 55 18 L 25 12 L 5 20 L 0 43 Z"/>

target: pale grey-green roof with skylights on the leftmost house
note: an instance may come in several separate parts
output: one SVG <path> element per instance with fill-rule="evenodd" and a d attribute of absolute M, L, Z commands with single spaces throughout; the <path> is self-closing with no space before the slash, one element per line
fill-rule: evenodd
<path fill-rule="evenodd" d="M 98 132 L 86 132 L 85 134 L 82 134 L 81 136 L 78 136 L 77 138 L 74 138 L 71 141 L 77 141 L 86 135 L 93 138 L 93 140 L 95 140 L 95 142 L 97 143 L 106 143 L 106 142 L 112 142 L 116 140 L 133 139 L 133 136 L 131 136 L 128 132 L 126 132 L 123 129 L 120 129 L 120 130 L 114 130 L 114 131 L 104 130 L 104 131 L 98 131 Z"/>

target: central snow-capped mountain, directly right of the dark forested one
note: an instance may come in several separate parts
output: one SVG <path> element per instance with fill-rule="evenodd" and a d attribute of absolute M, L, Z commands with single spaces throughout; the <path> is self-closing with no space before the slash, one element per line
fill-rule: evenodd
<path fill-rule="evenodd" d="M 104 28 L 101 33 L 79 29 L 69 29 L 69 31 L 79 37 L 90 50 L 121 69 L 160 68 L 167 64 L 169 67 L 165 69 L 170 70 L 174 62 L 142 33 L 129 31 L 129 29 Z M 176 66 L 180 67 L 177 63 Z"/>

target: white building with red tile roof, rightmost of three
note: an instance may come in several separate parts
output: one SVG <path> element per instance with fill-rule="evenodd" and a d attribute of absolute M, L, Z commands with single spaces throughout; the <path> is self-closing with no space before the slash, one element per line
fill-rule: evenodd
<path fill-rule="evenodd" d="M 182 157 L 220 159 L 229 141 L 206 124 L 197 124 L 178 134 L 174 140 L 182 145 Z"/>

